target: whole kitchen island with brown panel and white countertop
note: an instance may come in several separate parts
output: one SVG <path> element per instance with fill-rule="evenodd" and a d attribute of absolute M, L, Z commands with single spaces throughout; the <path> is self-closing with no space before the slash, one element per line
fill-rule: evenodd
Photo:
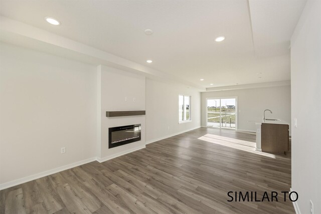
<path fill-rule="evenodd" d="M 284 154 L 289 148 L 289 123 L 282 120 L 265 119 L 255 122 L 256 150 Z"/>

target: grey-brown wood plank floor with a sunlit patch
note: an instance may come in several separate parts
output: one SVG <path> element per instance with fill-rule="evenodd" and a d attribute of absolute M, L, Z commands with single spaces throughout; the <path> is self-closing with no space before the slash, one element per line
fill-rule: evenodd
<path fill-rule="evenodd" d="M 290 157 L 256 152 L 253 142 L 248 133 L 199 128 L 2 190 L 0 213 L 294 213 L 281 195 Z M 279 195 L 228 202 L 228 191 Z"/>

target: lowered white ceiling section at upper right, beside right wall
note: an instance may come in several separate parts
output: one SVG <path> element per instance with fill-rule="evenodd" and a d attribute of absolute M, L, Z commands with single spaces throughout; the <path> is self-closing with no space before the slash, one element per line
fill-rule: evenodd
<path fill-rule="evenodd" d="M 305 1 L 249 0 L 255 53 L 260 57 L 289 53 L 294 27 Z"/>

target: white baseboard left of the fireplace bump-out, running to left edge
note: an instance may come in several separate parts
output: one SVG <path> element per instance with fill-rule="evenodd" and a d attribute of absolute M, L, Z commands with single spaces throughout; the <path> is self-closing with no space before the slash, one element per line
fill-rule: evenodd
<path fill-rule="evenodd" d="M 64 166 L 60 166 L 60 167 L 57 167 L 57 168 L 54 168 L 54 169 L 43 171 L 43 172 L 40 172 L 40 173 L 37 173 L 37 174 L 29 175 L 29 176 L 26 176 L 26 177 L 23 177 L 23 178 L 19 178 L 19 179 L 16 179 L 16 180 L 12 180 L 12 181 L 9 181 L 9 182 L 6 182 L 6 183 L 1 183 L 0 184 L 0 190 L 6 189 L 6 188 L 9 188 L 9 187 L 12 187 L 12 186 L 16 186 L 16 185 L 19 185 L 19 184 L 22 184 L 22 183 L 26 183 L 26 182 L 29 182 L 31 180 L 38 179 L 40 177 L 45 177 L 45 176 L 48 176 L 48 175 L 51 175 L 51 174 L 54 174 L 54 173 L 57 173 L 57 172 L 60 172 L 60 171 L 66 170 L 66 169 L 70 169 L 70 168 L 73 168 L 73 167 L 76 167 L 76 166 L 80 166 L 80 165 L 83 165 L 83 164 L 86 164 L 86 163 L 89 163 L 89 162 L 92 162 L 92 161 L 95 161 L 95 160 L 96 160 L 96 157 L 91 157 L 91 158 L 88 158 L 88 159 L 85 159 L 85 160 L 81 160 L 81 161 L 78 161 L 78 162 L 75 162 L 75 163 L 70 163 L 70 164 L 67 164 L 67 165 L 64 165 Z"/>

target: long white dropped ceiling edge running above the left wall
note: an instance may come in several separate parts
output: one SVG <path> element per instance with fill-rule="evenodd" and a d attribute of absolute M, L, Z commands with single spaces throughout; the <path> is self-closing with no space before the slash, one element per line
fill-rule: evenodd
<path fill-rule="evenodd" d="M 175 75 L 157 71 L 65 37 L 52 34 L 48 31 L 3 16 L 0 17 L 0 20 L 2 42 L 40 50 L 93 65 L 102 64 L 129 72 L 135 72 L 152 79 L 181 83 L 205 91 L 205 87 L 182 80 Z"/>

